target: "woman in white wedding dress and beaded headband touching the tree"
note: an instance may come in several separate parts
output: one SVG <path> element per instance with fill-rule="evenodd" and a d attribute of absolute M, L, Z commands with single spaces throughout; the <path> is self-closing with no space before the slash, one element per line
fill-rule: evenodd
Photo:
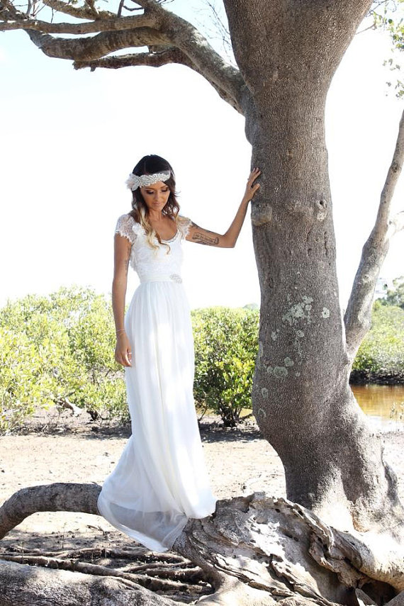
<path fill-rule="evenodd" d="M 170 164 L 150 155 L 127 181 L 133 210 L 115 233 L 112 303 L 115 358 L 125 367 L 132 435 L 99 495 L 98 508 L 113 526 L 154 551 L 167 551 L 189 517 L 215 510 L 193 402 L 193 338 L 181 284 L 181 242 L 230 248 L 259 188 L 249 175 L 224 235 L 179 215 Z M 126 314 L 128 266 L 140 286 Z"/>

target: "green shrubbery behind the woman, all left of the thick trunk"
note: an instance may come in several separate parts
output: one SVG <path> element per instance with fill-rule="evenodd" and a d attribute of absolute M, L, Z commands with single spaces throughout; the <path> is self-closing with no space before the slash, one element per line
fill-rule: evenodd
<path fill-rule="evenodd" d="M 211 308 L 192 318 L 196 402 L 234 426 L 250 407 L 259 313 Z M 110 304 L 91 288 L 8 302 L 0 310 L 0 340 L 0 431 L 64 400 L 94 418 L 128 420 Z"/>

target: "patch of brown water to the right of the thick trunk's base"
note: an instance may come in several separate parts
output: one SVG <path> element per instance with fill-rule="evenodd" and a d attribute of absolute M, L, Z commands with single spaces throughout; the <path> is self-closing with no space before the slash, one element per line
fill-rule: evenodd
<path fill-rule="evenodd" d="M 361 409 L 381 430 L 404 428 L 404 385 L 352 385 Z"/>

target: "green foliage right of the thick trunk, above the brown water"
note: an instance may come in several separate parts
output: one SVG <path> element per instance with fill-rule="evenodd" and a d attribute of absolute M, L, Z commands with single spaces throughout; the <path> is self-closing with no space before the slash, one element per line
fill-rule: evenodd
<path fill-rule="evenodd" d="M 404 310 L 375 301 L 371 330 L 359 347 L 352 378 L 362 381 L 404 381 Z"/>

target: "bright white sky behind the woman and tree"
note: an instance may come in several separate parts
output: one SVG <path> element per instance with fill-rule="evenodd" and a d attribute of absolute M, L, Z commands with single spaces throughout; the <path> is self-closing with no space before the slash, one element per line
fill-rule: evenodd
<path fill-rule="evenodd" d="M 177 0 L 171 8 L 184 11 Z M 386 35 L 357 35 L 327 101 L 327 148 L 342 305 L 374 223 L 402 103 L 390 92 Z M 181 214 L 224 231 L 242 198 L 250 146 L 244 119 L 198 74 L 181 66 L 74 71 L 28 36 L 0 39 L 0 305 L 26 293 L 89 285 L 110 293 L 113 231 L 130 211 L 125 179 L 142 155 L 167 157 Z M 404 207 L 404 177 L 395 211 Z M 404 274 L 403 232 L 381 275 Z M 235 249 L 185 244 L 193 308 L 259 303 L 249 215 Z M 127 303 L 138 284 L 128 282 Z"/>

